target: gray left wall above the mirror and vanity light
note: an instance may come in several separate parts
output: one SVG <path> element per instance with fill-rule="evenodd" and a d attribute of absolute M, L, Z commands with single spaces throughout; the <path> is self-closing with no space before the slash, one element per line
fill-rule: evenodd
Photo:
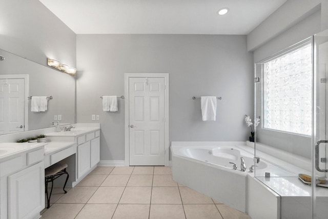
<path fill-rule="evenodd" d="M 1 0 L 0 49 L 47 65 L 76 66 L 76 34 L 38 0 Z"/>

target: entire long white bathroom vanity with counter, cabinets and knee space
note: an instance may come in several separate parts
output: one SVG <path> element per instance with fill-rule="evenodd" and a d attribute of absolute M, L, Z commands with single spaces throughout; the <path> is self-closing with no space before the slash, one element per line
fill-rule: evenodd
<path fill-rule="evenodd" d="M 45 168 L 68 164 L 74 187 L 100 160 L 100 125 L 74 124 L 46 133 L 46 143 L 0 143 L 0 218 L 39 218 L 45 208 Z M 63 184 L 60 178 L 55 183 Z"/>

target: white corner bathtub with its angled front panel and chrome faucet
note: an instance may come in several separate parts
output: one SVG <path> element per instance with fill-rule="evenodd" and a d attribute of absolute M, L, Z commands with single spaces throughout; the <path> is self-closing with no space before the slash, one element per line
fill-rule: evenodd
<path fill-rule="evenodd" d="M 254 165 L 253 155 L 238 145 L 244 142 L 172 142 L 173 180 L 206 194 L 230 207 L 247 213 L 248 174 Z M 246 171 L 240 170 L 240 157 L 244 158 Z M 237 170 L 233 170 L 233 164 Z M 261 161 L 256 170 L 268 164 Z"/>

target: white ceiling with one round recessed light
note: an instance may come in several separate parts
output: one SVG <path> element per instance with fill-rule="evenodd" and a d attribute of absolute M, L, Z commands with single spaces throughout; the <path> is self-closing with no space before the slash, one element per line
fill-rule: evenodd
<path fill-rule="evenodd" d="M 76 34 L 248 34 L 286 0 L 39 0 Z M 220 8 L 229 13 L 218 15 Z"/>

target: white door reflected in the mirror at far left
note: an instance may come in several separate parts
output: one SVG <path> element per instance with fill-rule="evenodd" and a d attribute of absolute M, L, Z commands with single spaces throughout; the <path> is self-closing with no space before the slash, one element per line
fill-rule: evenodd
<path fill-rule="evenodd" d="M 0 134 L 25 130 L 24 79 L 0 80 Z"/>

